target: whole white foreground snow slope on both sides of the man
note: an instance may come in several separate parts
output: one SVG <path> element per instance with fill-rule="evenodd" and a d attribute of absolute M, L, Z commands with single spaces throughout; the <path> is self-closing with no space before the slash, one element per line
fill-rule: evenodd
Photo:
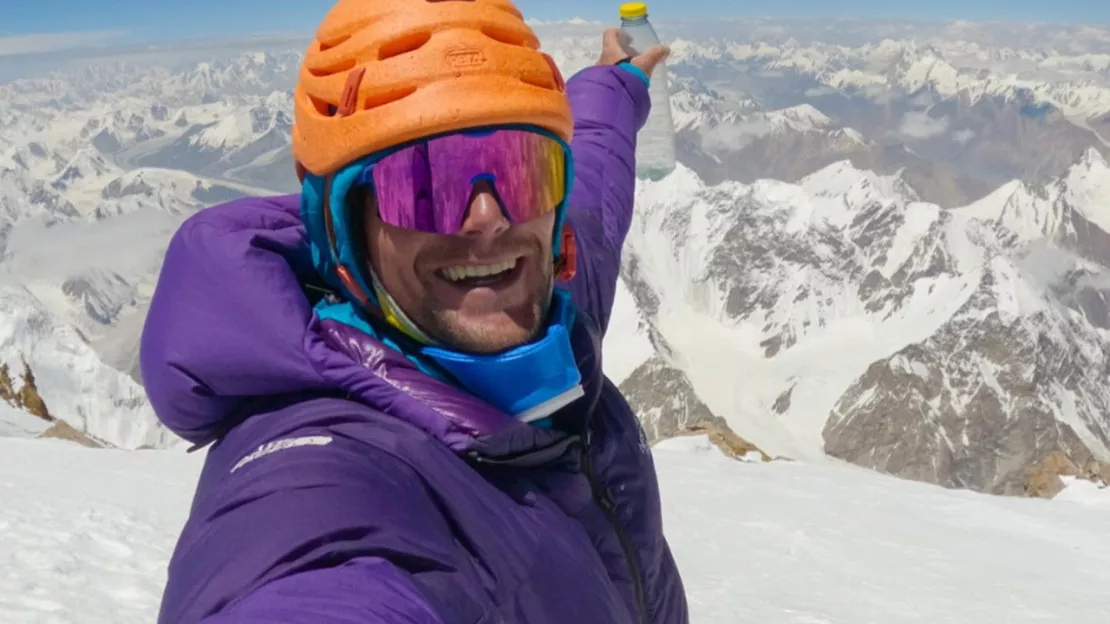
<path fill-rule="evenodd" d="M 704 437 L 654 453 L 694 624 L 1110 621 L 1101 493 L 1001 499 L 744 463 Z M 0 622 L 153 622 L 202 456 L 4 437 L 0 456 Z"/>

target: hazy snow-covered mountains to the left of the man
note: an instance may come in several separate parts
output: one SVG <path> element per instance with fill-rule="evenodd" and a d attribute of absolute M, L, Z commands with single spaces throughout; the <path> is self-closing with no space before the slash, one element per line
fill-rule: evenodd
<path fill-rule="evenodd" d="M 194 211 L 270 192 L 234 175 L 287 151 L 278 87 L 297 59 L 115 63 L 0 85 L 0 361 L 17 385 L 27 362 L 52 416 L 113 445 L 175 443 L 137 383 L 162 254 Z"/>

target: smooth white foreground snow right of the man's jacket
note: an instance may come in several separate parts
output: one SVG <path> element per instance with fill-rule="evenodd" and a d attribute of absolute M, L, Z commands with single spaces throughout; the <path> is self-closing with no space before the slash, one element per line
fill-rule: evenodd
<path fill-rule="evenodd" d="M 1103 492 L 992 497 L 702 441 L 655 451 L 693 622 L 1110 622 Z"/>

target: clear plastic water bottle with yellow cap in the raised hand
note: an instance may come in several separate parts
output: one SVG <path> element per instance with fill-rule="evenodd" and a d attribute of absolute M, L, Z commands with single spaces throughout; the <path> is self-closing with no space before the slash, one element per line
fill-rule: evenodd
<path fill-rule="evenodd" d="M 635 57 L 659 43 L 659 37 L 647 21 L 647 4 L 628 2 L 620 6 L 620 30 L 630 41 L 625 52 Z M 675 170 L 675 122 L 670 115 L 670 85 L 667 66 L 659 63 L 652 73 L 648 92 L 652 113 L 636 138 L 636 177 L 659 180 Z"/>

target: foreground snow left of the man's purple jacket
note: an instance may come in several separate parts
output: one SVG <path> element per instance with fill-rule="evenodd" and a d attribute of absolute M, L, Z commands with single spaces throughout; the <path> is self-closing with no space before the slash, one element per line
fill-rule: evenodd
<path fill-rule="evenodd" d="M 0 456 L 0 622 L 154 622 L 202 457 L 3 437 Z"/>

